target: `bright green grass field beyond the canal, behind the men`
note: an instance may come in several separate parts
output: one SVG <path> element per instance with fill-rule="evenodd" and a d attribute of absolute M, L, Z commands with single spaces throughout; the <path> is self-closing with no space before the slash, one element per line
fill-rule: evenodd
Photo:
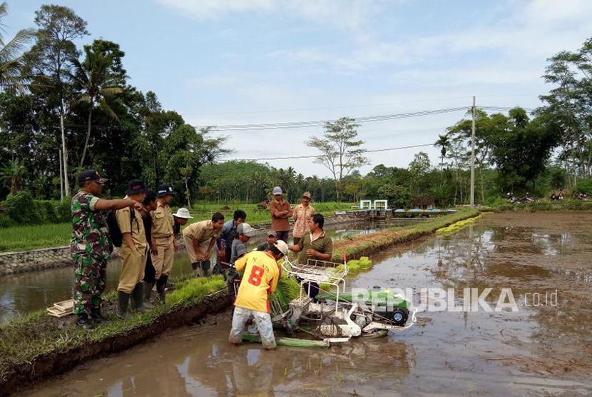
<path fill-rule="evenodd" d="M 292 204 L 295 205 L 295 204 Z M 352 203 L 312 203 L 317 212 L 330 216 L 333 211 L 344 211 Z M 256 204 L 241 203 L 198 203 L 192 206 L 188 224 L 212 218 L 215 212 L 222 212 L 227 219 L 233 217 L 236 209 L 247 213 L 247 222 L 251 224 L 271 221 L 269 210 L 257 209 Z M 37 226 L 13 226 L 0 228 L 0 252 L 21 252 L 32 249 L 67 246 L 70 243 L 72 225 L 66 223 L 49 223 Z"/>

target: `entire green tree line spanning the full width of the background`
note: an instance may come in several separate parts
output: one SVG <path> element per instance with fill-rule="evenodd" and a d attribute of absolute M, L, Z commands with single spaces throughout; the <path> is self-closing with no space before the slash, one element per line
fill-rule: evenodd
<path fill-rule="evenodd" d="M 0 4 L 0 23 L 7 15 Z M 325 124 L 305 141 L 313 161 L 330 177 L 304 176 L 256 161 L 219 162 L 232 150 L 215 128 L 196 130 L 176 111 L 163 109 L 153 91 L 129 84 L 125 52 L 113 41 L 89 35 L 86 21 L 64 6 L 36 11 L 35 29 L 6 39 L 0 30 L 0 200 L 28 190 L 36 198 L 60 197 L 60 174 L 71 194 L 75 177 L 93 168 L 120 196 L 128 179 L 148 186 L 172 184 L 180 200 L 258 202 L 282 186 L 291 202 L 310 191 L 316 201 L 387 198 L 409 207 L 418 198 L 440 205 L 469 202 L 472 114 L 439 134 L 439 162 L 419 152 L 405 168 L 378 164 L 363 175 L 364 141 L 355 119 Z M 542 76 L 551 84 L 542 106 L 505 113 L 476 109 L 476 203 L 506 192 L 540 196 L 553 189 L 587 191 L 592 173 L 592 39 L 577 51 L 548 59 Z"/>

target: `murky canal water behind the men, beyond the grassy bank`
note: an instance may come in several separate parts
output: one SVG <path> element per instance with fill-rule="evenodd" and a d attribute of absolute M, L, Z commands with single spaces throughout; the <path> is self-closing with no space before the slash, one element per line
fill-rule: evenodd
<path fill-rule="evenodd" d="M 381 228 L 408 225 L 409 221 L 372 221 L 345 223 L 327 226 L 327 232 L 334 240 L 347 238 L 361 233 L 374 233 Z M 265 237 L 257 236 L 247 244 L 255 248 L 265 241 Z M 107 290 L 117 288 L 121 260 L 109 261 L 107 266 Z M 191 266 L 185 252 L 175 255 L 175 266 L 172 276 L 190 274 Z M 18 313 L 47 308 L 53 303 L 64 301 L 72 296 L 73 270 L 70 267 L 55 268 L 39 272 L 2 276 L 0 278 L 0 322 L 16 316 Z"/>

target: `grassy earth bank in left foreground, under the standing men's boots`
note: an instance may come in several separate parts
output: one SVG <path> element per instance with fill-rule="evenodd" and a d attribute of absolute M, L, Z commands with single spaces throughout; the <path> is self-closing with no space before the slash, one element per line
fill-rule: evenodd
<path fill-rule="evenodd" d="M 222 276 L 177 281 L 165 304 L 128 320 L 115 315 L 116 291 L 108 293 L 103 312 L 111 323 L 93 331 L 74 325 L 73 316 L 54 318 L 44 310 L 0 325 L 0 396 L 70 370 L 89 358 L 121 351 L 167 328 L 196 321 L 228 308 Z"/>

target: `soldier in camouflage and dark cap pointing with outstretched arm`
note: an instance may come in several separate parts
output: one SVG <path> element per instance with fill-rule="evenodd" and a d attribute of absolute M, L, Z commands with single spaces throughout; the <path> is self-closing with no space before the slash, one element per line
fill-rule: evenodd
<path fill-rule="evenodd" d="M 71 202 L 70 252 L 76 262 L 73 313 L 76 314 L 76 325 L 86 329 L 93 329 L 93 323 L 106 322 L 101 315 L 101 294 L 105 291 L 107 258 L 113 246 L 101 211 L 129 206 L 141 208 L 138 201 L 131 199 L 98 198 L 106 181 L 95 170 L 82 171 L 78 176 L 80 190 Z"/>

